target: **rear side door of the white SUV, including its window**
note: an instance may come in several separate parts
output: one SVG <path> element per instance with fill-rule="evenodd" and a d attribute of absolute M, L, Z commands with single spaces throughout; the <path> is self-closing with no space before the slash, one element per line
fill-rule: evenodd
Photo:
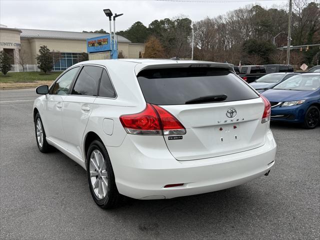
<path fill-rule="evenodd" d="M 84 65 L 70 94 L 63 101 L 62 125 L 68 150 L 80 158 L 82 158 L 82 136 L 97 96 L 102 69 L 97 65 Z"/>

